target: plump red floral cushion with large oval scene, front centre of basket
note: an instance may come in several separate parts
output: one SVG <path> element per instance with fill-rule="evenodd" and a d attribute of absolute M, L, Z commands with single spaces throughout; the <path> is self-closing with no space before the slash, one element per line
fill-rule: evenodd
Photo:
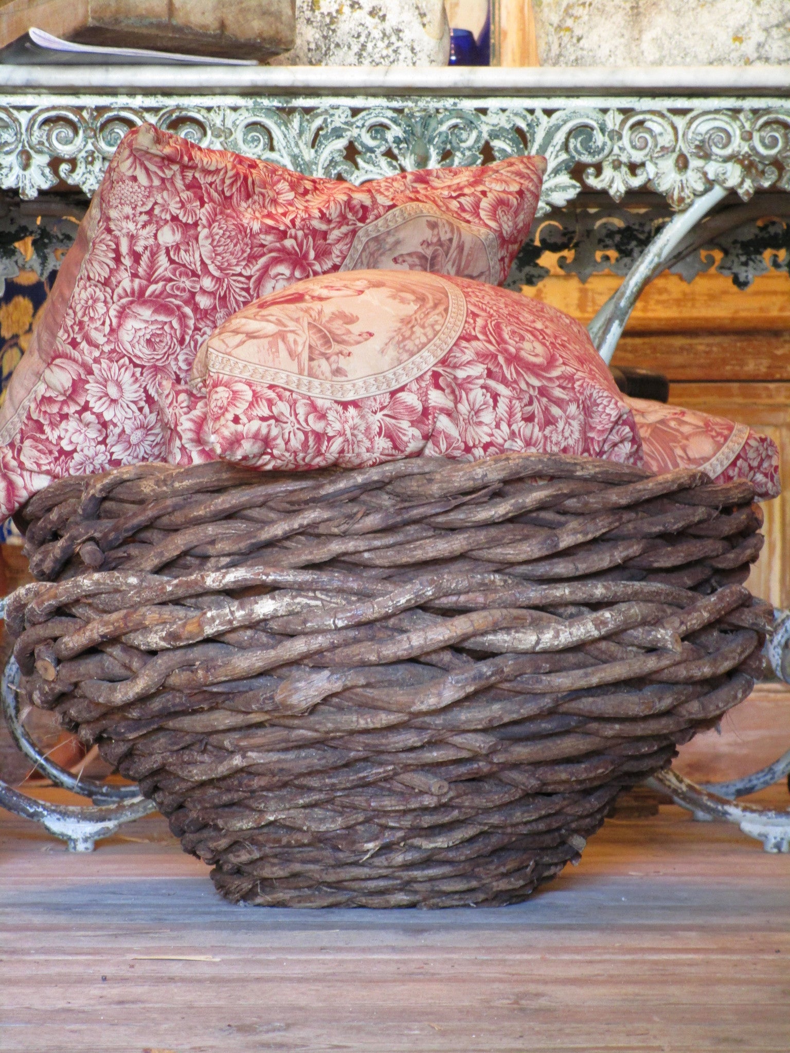
<path fill-rule="evenodd" d="M 641 462 L 631 411 L 578 322 L 443 275 L 360 271 L 265 296 L 201 347 L 193 392 L 163 402 L 176 463 L 357 468 L 522 450 Z"/>

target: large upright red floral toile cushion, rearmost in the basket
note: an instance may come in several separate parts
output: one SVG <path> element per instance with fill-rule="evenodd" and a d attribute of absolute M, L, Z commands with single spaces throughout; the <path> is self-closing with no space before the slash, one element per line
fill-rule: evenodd
<path fill-rule="evenodd" d="M 545 166 L 510 157 L 355 186 L 130 132 L 0 409 L 0 514 L 53 478 L 162 458 L 160 390 L 263 294 L 360 267 L 503 281 Z"/>

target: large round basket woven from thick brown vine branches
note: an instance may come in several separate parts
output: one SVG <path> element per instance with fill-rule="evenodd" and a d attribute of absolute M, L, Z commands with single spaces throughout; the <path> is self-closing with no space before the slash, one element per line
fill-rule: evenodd
<path fill-rule="evenodd" d="M 514 454 L 118 469 L 29 500 L 25 699 L 232 900 L 522 900 L 742 701 L 748 482 Z"/>

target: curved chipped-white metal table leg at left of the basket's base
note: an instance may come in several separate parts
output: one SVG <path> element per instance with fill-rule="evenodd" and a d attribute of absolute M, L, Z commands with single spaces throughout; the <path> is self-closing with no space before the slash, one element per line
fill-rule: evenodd
<path fill-rule="evenodd" d="M 0 779 L 0 807 L 42 823 L 51 834 L 64 840 L 71 852 L 91 852 L 97 840 L 111 837 L 124 822 L 156 811 L 156 804 L 146 800 L 137 787 L 107 787 L 80 779 L 44 757 L 19 718 L 19 667 L 12 657 L 0 682 L 0 704 L 15 742 L 56 786 L 91 797 L 95 803 L 93 808 L 50 804 L 26 797 Z"/>

